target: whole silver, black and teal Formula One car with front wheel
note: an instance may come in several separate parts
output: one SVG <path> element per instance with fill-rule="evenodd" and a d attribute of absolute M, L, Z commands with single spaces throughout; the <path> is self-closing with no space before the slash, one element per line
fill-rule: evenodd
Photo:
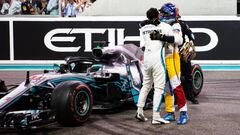
<path fill-rule="evenodd" d="M 30 128 L 57 121 L 86 122 L 92 109 L 137 103 L 143 51 L 133 45 L 96 47 L 92 58 L 68 57 L 57 70 L 29 76 L 7 88 L 0 81 L 0 127 Z"/>

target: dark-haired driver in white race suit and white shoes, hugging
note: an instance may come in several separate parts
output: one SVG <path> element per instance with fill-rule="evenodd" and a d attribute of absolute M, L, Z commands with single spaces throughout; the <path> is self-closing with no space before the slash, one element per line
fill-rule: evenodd
<path fill-rule="evenodd" d="M 143 113 L 143 107 L 147 95 L 154 84 L 152 124 L 165 124 L 169 123 L 169 121 L 164 120 L 160 116 L 160 105 L 166 83 L 164 42 L 167 41 L 173 43 L 174 37 L 172 36 L 172 27 L 167 23 L 160 23 L 159 11 L 156 8 L 150 8 L 146 14 L 148 20 L 145 20 L 140 24 L 142 27 L 140 31 L 145 42 L 144 72 L 143 87 L 140 90 L 137 104 L 138 109 L 135 118 L 140 121 L 147 121 L 147 118 Z M 161 40 L 151 40 L 150 34 L 153 32 L 161 33 Z"/>

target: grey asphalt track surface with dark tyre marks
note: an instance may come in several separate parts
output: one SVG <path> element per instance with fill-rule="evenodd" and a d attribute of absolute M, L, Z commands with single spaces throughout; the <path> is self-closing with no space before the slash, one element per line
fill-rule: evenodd
<path fill-rule="evenodd" d="M 30 72 L 31 75 L 38 73 Z M 25 72 L 0 71 L 0 78 L 7 84 L 23 81 Z M 186 125 L 172 122 L 167 125 L 151 125 L 151 120 L 138 122 L 136 108 L 127 104 L 112 112 L 95 111 L 90 119 L 78 127 L 62 127 L 58 123 L 30 131 L 37 135 L 240 135 L 240 71 L 204 71 L 204 86 L 198 97 L 199 105 L 188 101 L 190 121 Z M 164 105 L 162 107 L 164 114 Z M 151 119 L 152 110 L 145 115 Z M 177 118 L 179 112 L 176 113 Z M 20 134 L 3 131 L 0 134 Z"/>

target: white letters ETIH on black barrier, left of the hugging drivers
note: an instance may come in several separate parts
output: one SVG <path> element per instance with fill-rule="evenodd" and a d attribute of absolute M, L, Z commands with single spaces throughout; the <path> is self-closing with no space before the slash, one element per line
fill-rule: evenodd
<path fill-rule="evenodd" d="M 92 34 L 104 34 L 108 31 L 108 46 L 115 46 L 115 32 L 117 31 L 117 44 L 124 44 L 125 41 L 140 41 L 139 36 L 124 37 L 124 30 L 122 28 L 59 28 L 49 31 L 44 37 L 45 46 L 55 52 L 78 52 L 82 46 L 85 46 L 84 52 L 92 51 Z M 57 34 L 66 34 L 66 37 L 56 36 Z M 54 43 L 58 42 L 74 42 L 76 39 L 72 34 L 84 34 L 85 45 L 78 45 L 77 47 L 58 47 Z"/>

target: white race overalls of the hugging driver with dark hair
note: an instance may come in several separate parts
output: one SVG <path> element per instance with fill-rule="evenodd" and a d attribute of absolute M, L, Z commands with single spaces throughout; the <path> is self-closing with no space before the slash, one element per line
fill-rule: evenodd
<path fill-rule="evenodd" d="M 159 25 L 147 24 L 141 29 L 144 38 L 144 71 L 143 71 L 143 87 L 140 90 L 138 107 L 143 108 L 147 95 L 154 84 L 153 96 L 153 117 L 158 114 L 160 117 L 160 105 L 164 87 L 166 83 L 166 70 L 164 65 L 165 50 L 163 42 L 160 40 L 151 40 L 150 33 L 158 31 L 165 35 L 173 35 L 172 28 L 169 24 L 160 23 Z M 158 116 L 156 116 L 158 117 Z"/>

